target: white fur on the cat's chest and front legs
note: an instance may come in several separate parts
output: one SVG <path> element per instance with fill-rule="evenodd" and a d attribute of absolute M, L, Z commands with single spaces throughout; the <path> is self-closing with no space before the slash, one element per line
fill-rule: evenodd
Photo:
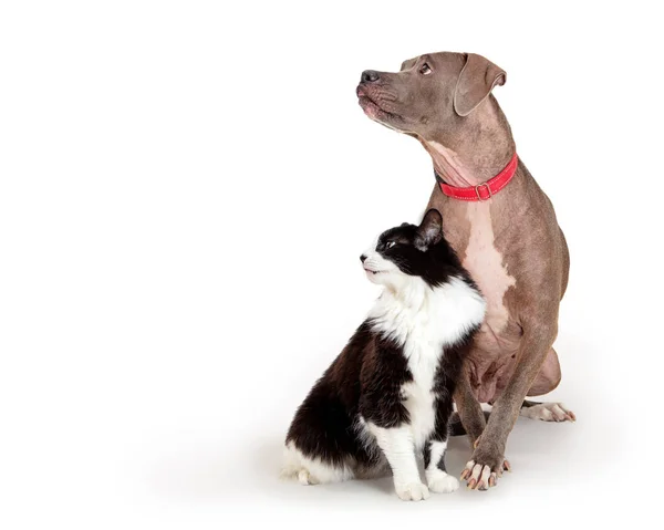
<path fill-rule="evenodd" d="M 413 486 L 419 482 L 415 451 L 422 450 L 435 428 L 436 396 L 433 385 L 440 356 L 446 346 L 455 344 L 469 329 L 481 323 L 485 301 L 459 278 L 430 288 L 422 278 L 394 276 L 401 285 L 395 290 L 387 287 L 369 316 L 375 331 L 392 337 L 403 347 L 413 374 L 413 381 L 402 387 L 411 422 L 390 429 L 372 423 L 365 425 L 390 463 L 397 493 L 401 498 L 409 499 L 413 495 L 421 496 L 419 487 Z M 432 445 L 434 467 L 446 447 L 438 444 Z M 453 480 L 440 475 L 444 471 L 434 471 L 433 468 L 429 471 L 437 489 L 456 489 Z M 423 495 L 422 498 L 425 498 Z"/>

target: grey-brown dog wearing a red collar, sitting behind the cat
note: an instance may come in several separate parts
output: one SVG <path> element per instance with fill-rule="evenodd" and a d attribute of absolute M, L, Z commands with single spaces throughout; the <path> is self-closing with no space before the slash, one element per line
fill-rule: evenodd
<path fill-rule="evenodd" d="M 443 215 L 445 238 L 487 300 L 455 403 L 474 446 L 461 472 L 488 489 L 504 469 L 519 414 L 575 420 L 560 403 L 527 396 L 561 378 L 553 341 L 569 276 L 569 250 L 553 206 L 516 154 L 510 126 L 492 95 L 506 73 L 481 55 L 439 52 L 405 61 L 400 72 L 362 73 L 366 116 L 415 137 L 438 180 L 427 209 Z M 486 419 L 480 403 L 492 405 Z"/>

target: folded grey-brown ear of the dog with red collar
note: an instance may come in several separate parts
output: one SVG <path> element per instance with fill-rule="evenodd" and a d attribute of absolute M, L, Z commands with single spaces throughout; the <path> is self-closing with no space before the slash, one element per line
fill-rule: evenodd
<path fill-rule="evenodd" d="M 502 86 L 507 74 L 488 59 L 467 53 L 454 91 L 454 110 L 459 116 L 467 116 L 485 101 L 494 86 Z"/>

